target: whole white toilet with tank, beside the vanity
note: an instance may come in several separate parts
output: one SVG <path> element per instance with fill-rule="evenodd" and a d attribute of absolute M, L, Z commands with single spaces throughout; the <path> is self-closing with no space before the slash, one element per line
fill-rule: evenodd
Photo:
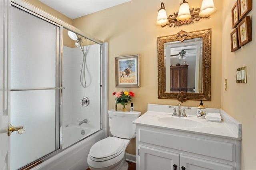
<path fill-rule="evenodd" d="M 128 170 L 125 149 L 132 138 L 135 138 L 135 125 L 132 122 L 140 112 L 108 110 L 109 136 L 96 142 L 87 157 L 90 170 Z"/>

